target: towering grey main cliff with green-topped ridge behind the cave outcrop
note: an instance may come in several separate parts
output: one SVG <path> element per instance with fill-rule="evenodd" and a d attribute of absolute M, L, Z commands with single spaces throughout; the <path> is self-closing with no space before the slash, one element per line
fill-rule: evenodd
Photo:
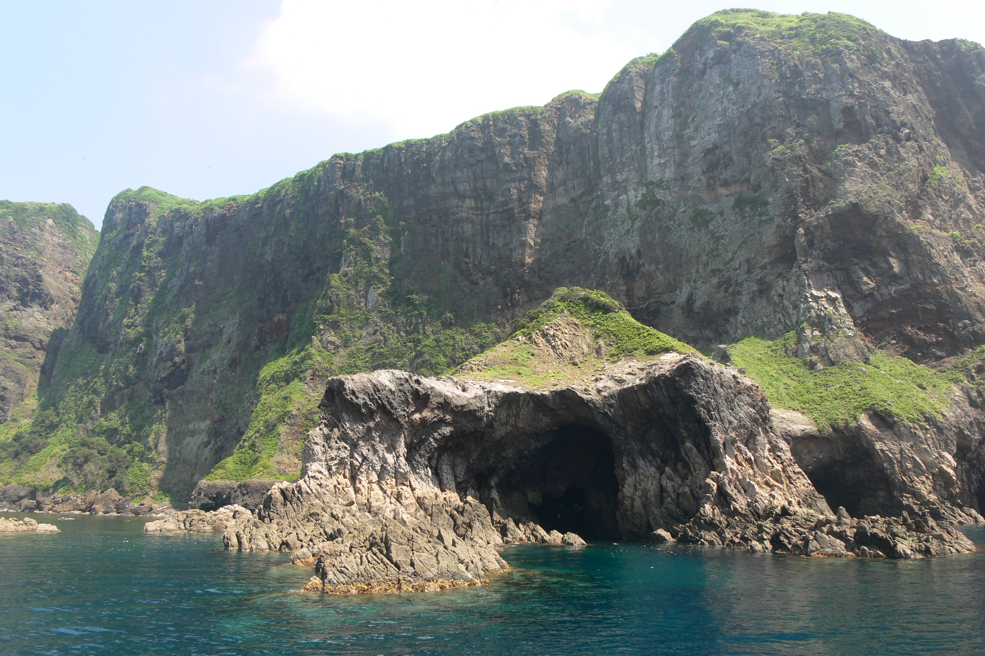
<path fill-rule="evenodd" d="M 297 476 L 329 376 L 439 373 L 559 285 L 699 346 L 807 324 L 802 357 L 959 353 L 985 341 L 983 71 L 974 44 L 722 12 L 598 96 L 252 196 L 125 192 L 47 402 L 187 494 Z"/>

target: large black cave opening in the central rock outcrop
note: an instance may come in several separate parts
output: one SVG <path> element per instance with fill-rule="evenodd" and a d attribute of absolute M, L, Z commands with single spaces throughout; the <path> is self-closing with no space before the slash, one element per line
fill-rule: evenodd
<path fill-rule="evenodd" d="M 529 517 L 547 531 L 618 538 L 612 441 L 583 426 L 565 426 L 545 437 L 542 447 L 499 480 L 500 503 L 510 515 Z"/>

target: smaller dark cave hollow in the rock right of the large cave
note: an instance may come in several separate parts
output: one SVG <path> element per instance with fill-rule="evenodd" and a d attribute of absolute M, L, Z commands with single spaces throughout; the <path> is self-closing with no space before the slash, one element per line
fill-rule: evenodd
<path fill-rule="evenodd" d="M 842 506 L 853 517 L 898 514 L 902 507 L 872 456 L 861 449 L 850 449 L 846 455 L 807 472 L 827 505 L 832 510 Z"/>

